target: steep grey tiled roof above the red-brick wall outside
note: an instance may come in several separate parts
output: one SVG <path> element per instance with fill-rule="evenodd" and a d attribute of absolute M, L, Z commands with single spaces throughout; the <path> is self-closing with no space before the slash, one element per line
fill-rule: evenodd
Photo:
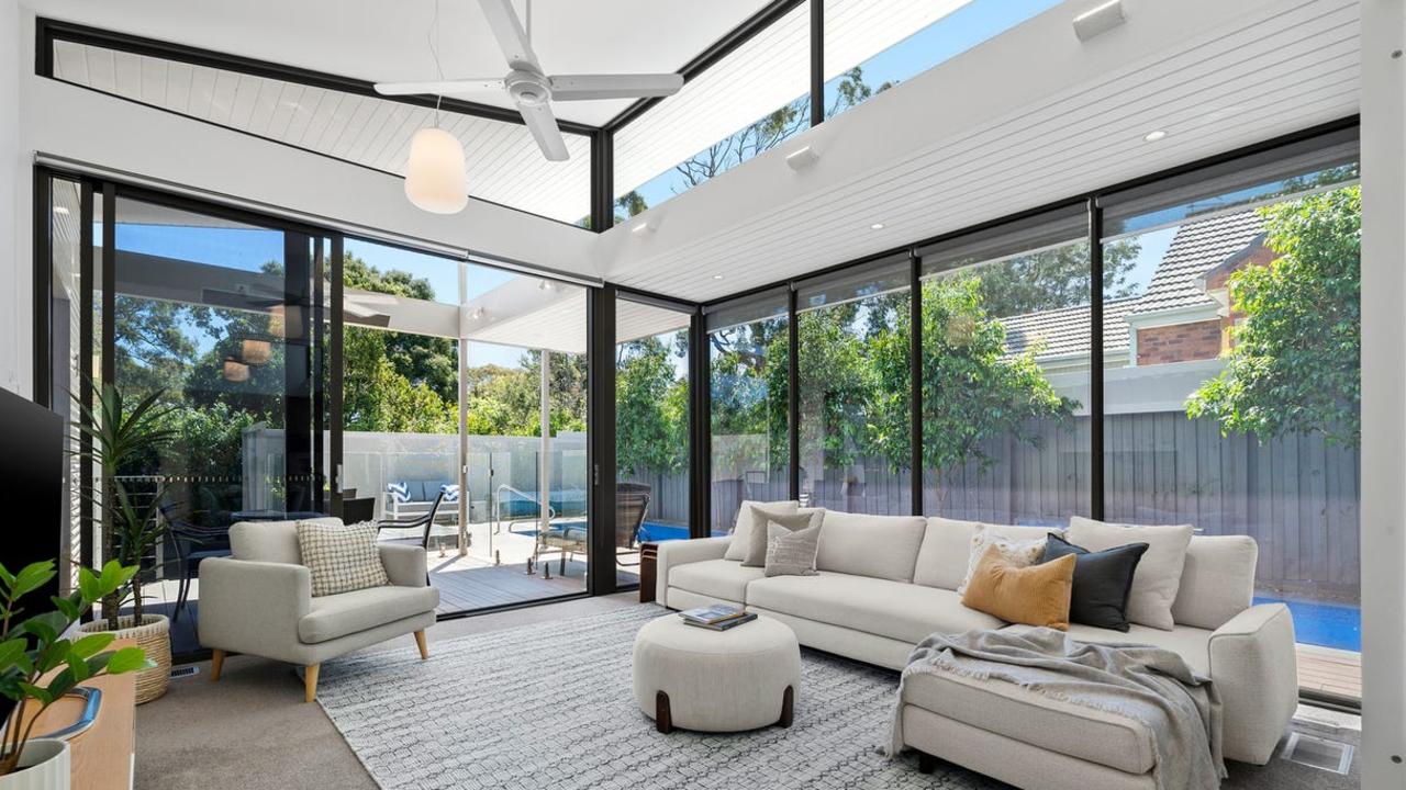
<path fill-rule="evenodd" d="M 1197 280 L 1263 232 L 1264 224 L 1253 209 L 1182 225 L 1132 315 L 1215 304 Z"/>

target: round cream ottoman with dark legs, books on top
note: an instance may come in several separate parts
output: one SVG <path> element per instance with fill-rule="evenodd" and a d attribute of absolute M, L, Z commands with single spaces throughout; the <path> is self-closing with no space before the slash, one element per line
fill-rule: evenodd
<path fill-rule="evenodd" d="M 634 638 L 634 699 L 659 732 L 790 727 L 799 690 L 796 634 L 768 617 L 710 631 L 671 614 Z"/>

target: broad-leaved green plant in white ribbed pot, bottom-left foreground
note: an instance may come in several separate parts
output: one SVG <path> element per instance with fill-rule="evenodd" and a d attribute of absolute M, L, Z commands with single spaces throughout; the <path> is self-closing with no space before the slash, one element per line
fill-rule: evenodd
<path fill-rule="evenodd" d="M 55 609 L 18 620 L 20 599 L 46 585 L 53 561 L 11 574 L 0 565 L 0 696 L 14 703 L 0 734 L 0 790 L 69 790 L 66 741 L 35 738 L 38 715 L 80 683 L 150 666 L 141 648 L 108 651 L 114 634 L 65 634 L 94 602 L 127 585 L 136 568 L 108 562 L 79 569 L 79 589 L 51 599 Z"/>

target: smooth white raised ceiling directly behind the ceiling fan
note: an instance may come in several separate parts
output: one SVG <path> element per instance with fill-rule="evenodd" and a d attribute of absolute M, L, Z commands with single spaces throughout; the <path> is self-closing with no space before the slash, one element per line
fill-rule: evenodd
<path fill-rule="evenodd" d="M 434 0 L 34 0 L 41 15 L 368 82 L 434 76 Z M 526 0 L 516 0 L 523 14 Z M 675 72 L 766 0 L 533 0 L 533 48 L 547 73 Z M 444 75 L 508 72 L 474 0 L 439 0 Z M 464 97 L 512 107 L 506 96 Z M 630 100 L 555 105 L 600 125 Z"/>

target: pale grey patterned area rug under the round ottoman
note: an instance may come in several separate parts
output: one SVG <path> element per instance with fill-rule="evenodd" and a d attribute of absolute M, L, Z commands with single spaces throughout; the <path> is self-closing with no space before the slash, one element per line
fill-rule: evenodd
<path fill-rule="evenodd" d="M 661 609 L 354 655 L 322 669 L 318 697 L 387 790 L 986 789 L 956 766 L 924 776 L 879 748 L 898 676 L 801 651 L 796 723 L 661 735 L 634 703 L 634 634 Z"/>

